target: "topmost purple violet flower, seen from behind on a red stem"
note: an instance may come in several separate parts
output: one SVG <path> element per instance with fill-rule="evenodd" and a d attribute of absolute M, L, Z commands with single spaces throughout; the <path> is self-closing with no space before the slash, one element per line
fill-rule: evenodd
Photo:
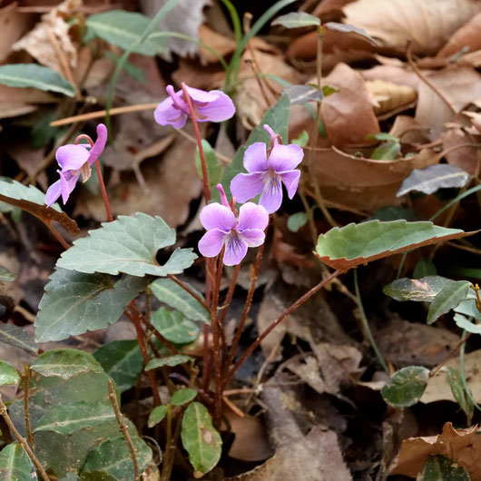
<path fill-rule="evenodd" d="M 185 85 L 185 89 L 191 97 L 195 119 L 197 122 L 222 122 L 230 119 L 235 113 L 234 103 L 231 97 L 220 90 L 194 89 Z M 189 105 L 183 99 L 182 89 L 178 92 L 173 90 L 172 85 L 167 85 L 165 89 L 169 94 L 164 101 L 157 105 L 153 116 L 156 123 L 161 125 L 172 125 L 176 129 L 182 129 L 187 117 L 191 115 Z"/>

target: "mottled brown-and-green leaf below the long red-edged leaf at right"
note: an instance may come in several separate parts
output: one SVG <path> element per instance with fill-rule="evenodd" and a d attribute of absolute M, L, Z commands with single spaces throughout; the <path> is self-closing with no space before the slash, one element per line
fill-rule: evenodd
<path fill-rule="evenodd" d="M 400 301 L 432 302 L 441 290 L 453 282 L 455 281 L 441 276 L 427 276 L 419 280 L 402 278 L 394 280 L 382 291 L 387 296 Z"/>

